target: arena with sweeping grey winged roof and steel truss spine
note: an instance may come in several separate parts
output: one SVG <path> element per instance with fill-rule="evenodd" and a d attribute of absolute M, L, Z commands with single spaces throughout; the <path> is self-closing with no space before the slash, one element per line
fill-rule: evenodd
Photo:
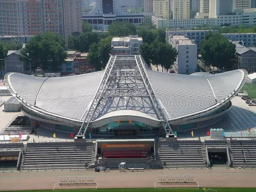
<path fill-rule="evenodd" d="M 60 78 L 9 73 L 4 80 L 33 120 L 72 126 L 78 136 L 115 137 L 115 130 L 146 136 L 194 129 L 195 122 L 212 124 L 231 107 L 246 78 L 245 70 L 201 76 L 155 72 L 141 56 L 111 56 L 104 71 Z"/>

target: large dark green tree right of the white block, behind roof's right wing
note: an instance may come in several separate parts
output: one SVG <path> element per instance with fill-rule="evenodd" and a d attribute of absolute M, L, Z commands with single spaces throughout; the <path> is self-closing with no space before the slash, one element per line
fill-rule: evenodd
<path fill-rule="evenodd" d="M 236 62 L 236 45 L 217 32 L 209 32 L 202 41 L 201 54 L 207 66 L 233 68 Z"/>

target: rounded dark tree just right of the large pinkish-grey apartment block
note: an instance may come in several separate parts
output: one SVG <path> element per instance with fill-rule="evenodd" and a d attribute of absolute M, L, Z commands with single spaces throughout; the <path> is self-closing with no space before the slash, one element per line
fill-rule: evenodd
<path fill-rule="evenodd" d="M 88 52 L 90 45 L 93 43 L 97 44 L 98 41 L 99 38 L 96 33 L 86 32 L 80 34 L 77 38 L 75 38 L 74 47 L 80 52 Z"/>

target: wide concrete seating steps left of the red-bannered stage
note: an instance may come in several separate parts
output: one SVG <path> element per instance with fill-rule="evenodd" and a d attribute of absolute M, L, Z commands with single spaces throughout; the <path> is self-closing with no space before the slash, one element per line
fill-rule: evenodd
<path fill-rule="evenodd" d="M 92 142 L 28 143 L 23 155 L 23 170 L 81 169 L 91 164 Z"/>

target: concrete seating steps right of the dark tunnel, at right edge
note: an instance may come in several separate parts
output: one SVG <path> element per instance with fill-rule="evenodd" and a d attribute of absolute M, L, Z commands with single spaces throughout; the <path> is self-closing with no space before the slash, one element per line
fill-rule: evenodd
<path fill-rule="evenodd" d="M 231 140 L 231 148 L 234 158 L 234 166 L 256 166 L 255 140 Z M 244 162 L 246 160 L 246 162 Z"/>

